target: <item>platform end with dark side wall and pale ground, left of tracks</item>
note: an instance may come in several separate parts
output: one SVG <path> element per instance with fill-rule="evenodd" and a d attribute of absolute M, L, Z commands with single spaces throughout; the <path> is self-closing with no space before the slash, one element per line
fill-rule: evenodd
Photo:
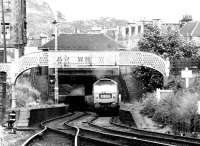
<path fill-rule="evenodd" d="M 0 125 L 0 145 L 1 146 L 20 146 L 24 141 L 31 137 L 39 130 L 34 128 L 35 124 L 41 121 L 60 116 L 68 112 L 68 106 L 64 104 L 58 105 L 42 105 L 29 108 L 10 109 L 16 111 L 16 133 L 12 133 L 11 129 L 7 129 Z M 6 123 L 3 124 L 6 126 Z"/>

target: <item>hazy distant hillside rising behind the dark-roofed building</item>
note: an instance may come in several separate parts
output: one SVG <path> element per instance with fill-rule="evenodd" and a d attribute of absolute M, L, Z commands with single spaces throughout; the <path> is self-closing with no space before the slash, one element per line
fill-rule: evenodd
<path fill-rule="evenodd" d="M 28 36 L 38 38 L 40 34 L 51 36 L 53 34 L 54 20 L 53 11 L 49 4 L 43 0 L 28 0 L 27 1 L 27 27 Z M 58 20 L 67 22 L 65 16 L 59 12 Z M 93 27 L 100 28 L 115 28 L 127 23 L 126 20 L 118 20 L 115 18 L 99 18 L 87 21 L 73 21 L 59 25 L 60 33 L 73 33 L 75 29 L 84 33 L 91 30 Z"/>

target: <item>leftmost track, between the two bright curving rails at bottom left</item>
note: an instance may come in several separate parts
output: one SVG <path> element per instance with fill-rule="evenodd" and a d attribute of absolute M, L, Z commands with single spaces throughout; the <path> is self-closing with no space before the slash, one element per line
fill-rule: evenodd
<path fill-rule="evenodd" d="M 40 132 L 30 137 L 22 146 L 32 145 L 68 145 L 74 144 L 74 135 L 76 131 L 73 129 L 67 129 L 64 126 L 66 121 L 76 119 L 84 116 L 82 112 L 68 113 L 63 116 L 59 116 L 41 123 L 43 128 Z"/>

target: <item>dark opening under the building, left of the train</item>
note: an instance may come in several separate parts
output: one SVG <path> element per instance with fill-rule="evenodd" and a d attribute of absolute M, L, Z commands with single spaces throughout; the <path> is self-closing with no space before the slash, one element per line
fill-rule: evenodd
<path fill-rule="evenodd" d="M 92 96 L 93 84 L 100 78 L 118 75 L 117 69 L 62 69 L 59 71 L 59 103 L 70 110 L 91 110 L 86 97 Z M 97 76 L 97 74 L 100 74 Z"/>

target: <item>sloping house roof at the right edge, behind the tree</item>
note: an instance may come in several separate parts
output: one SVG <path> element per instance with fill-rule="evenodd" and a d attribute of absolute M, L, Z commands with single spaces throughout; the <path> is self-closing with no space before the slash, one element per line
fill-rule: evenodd
<path fill-rule="evenodd" d="M 182 27 L 180 32 L 185 37 L 200 37 L 200 22 L 189 22 Z"/>

